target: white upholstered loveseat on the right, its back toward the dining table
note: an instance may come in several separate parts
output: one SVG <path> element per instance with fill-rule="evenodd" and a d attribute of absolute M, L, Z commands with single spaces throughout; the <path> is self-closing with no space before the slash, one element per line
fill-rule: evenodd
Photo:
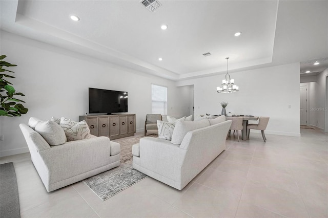
<path fill-rule="evenodd" d="M 141 138 L 132 147 L 133 168 L 181 190 L 226 149 L 226 138 L 232 123 L 228 120 L 214 124 L 215 121 L 208 119 L 198 122 L 205 127 L 186 133 L 188 125 L 196 122 L 177 121 L 172 136 L 175 144 L 159 138 Z M 185 129 L 181 130 L 181 126 Z M 179 142 L 174 135 L 182 138 L 180 144 L 177 144 Z"/>

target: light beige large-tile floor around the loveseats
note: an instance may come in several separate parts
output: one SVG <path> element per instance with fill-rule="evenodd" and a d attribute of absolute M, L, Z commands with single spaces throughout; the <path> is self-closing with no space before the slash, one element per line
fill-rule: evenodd
<path fill-rule="evenodd" d="M 328 217 L 328 134 L 267 138 L 232 136 L 181 191 L 148 177 L 104 202 L 83 182 L 48 193 L 28 153 L 0 161 L 14 163 L 22 217 Z"/>

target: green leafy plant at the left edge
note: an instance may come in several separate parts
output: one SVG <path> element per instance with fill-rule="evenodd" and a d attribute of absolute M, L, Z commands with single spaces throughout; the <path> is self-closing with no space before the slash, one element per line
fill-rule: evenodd
<path fill-rule="evenodd" d="M 7 78 L 15 78 L 14 76 L 5 74 L 4 72 L 14 73 L 4 67 L 15 67 L 16 64 L 11 64 L 3 59 L 6 55 L 0 56 L 0 116 L 8 117 L 20 117 L 22 114 L 28 112 L 28 108 L 24 107 L 23 104 L 18 102 L 25 101 L 16 98 L 16 96 L 25 96 L 23 93 L 16 92 L 12 83 L 7 80 Z M 6 72 L 6 73 L 7 73 Z"/>

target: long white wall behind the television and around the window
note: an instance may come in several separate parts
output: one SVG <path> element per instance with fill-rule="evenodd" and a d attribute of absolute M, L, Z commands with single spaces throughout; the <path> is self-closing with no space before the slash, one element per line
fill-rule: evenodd
<path fill-rule="evenodd" d="M 46 43 L 8 32 L 1 32 L 1 54 L 8 62 L 17 64 L 10 79 L 29 112 L 22 117 L 0 117 L 0 155 L 27 152 L 19 123 L 30 117 L 48 120 L 52 116 L 78 120 L 88 112 L 88 87 L 127 91 L 129 113 L 136 114 L 138 132 L 144 129 L 146 114 L 151 113 L 151 83 L 168 87 L 168 114 L 176 117 L 190 115 L 190 88 L 177 88 L 175 82 L 122 68 Z"/>

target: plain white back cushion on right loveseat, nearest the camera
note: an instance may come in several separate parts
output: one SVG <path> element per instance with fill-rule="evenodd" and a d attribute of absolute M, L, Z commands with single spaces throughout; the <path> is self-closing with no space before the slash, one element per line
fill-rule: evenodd
<path fill-rule="evenodd" d="M 202 119 L 200 121 L 195 121 L 195 122 L 179 120 L 175 123 L 171 143 L 179 145 L 181 144 L 183 138 L 185 138 L 186 134 L 189 131 L 198 128 L 203 128 L 209 125 L 210 122 L 208 119 Z"/>

